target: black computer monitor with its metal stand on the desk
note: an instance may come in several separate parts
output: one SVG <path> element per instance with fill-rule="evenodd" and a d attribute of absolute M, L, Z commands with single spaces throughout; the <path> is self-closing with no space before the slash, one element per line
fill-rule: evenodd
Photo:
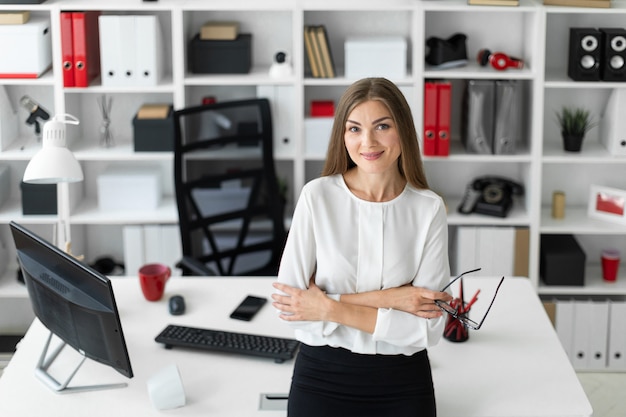
<path fill-rule="evenodd" d="M 59 393 L 126 386 L 68 386 L 86 358 L 133 377 L 111 281 L 22 225 L 11 222 L 10 228 L 33 311 L 50 330 L 35 370 L 37 377 Z M 53 335 L 61 341 L 48 354 Z M 65 345 L 78 351 L 82 360 L 69 378 L 59 382 L 48 369 Z"/>

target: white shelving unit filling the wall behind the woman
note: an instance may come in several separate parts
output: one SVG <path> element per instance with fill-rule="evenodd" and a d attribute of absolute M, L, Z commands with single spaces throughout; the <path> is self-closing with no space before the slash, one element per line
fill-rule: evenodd
<path fill-rule="evenodd" d="M 202 97 L 219 101 L 266 96 L 273 103 L 275 154 L 279 175 L 288 181 L 288 203 L 293 206 L 299 190 L 316 177 L 323 156 L 308 155 L 304 143 L 304 119 L 308 103 L 314 99 L 337 100 L 353 79 L 344 75 L 343 43 L 352 35 L 400 35 L 408 41 L 407 75 L 393 79 L 406 94 L 414 111 L 418 132 L 422 131 L 423 86 L 429 79 L 445 78 L 453 85 L 451 154 L 425 157 L 431 186 L 441 193 L 450 208 L 452 229 L 462 225 L 516 226 L 530 230 L 530 279 L 540 295 L 605 294 L 624 296 L 621 285 L 596 283 L 599 248 L 607 241 L 626 253 L 626 227 L 592 221 L 586 217 L 586 201 L 591 184 L 625 188 L 626 164 L 599 144 L 597 129 L 592 130 L 580 154 L 563 152 L 554 120 L 554 110 L 565 103 L 582 101 L 598 117 L 610 92 L 626 88 L 622 83 L 574 82 L 567 78 L 569 27 L 624 27 L 626 6 L 614 0 L 611 9 L 545 7 L 541 2 L 521 0 L 518 7 L 468 6 L 464 0 L 49 0 L 41 5 L 0 5 L 0 10 L 30 10 L 33 16 L 51 21 L 53 68 L 34 80 L 2 79 L 16 103 L 23 94 L 39 101 L 51 113 L 68 112 L 81 120 L 68 128 L 70 147 L 81 161 L 85 182 L 72 187 L 71 214 L 74 248 L 88 261 L 97 256 L 121 258 L 122 229 L 128 224 L 175 224 L 172 154 L 135 153 L 131 120 L 145 102 L 171 102 L 175 108 L 196 105 Z M 152 14 L 159 18 L 164 34 L 165 77 L 155 87 L 108 88 L 96 80 L 87 88 L 64 88 L 60 68 L 60 13 L 70 10 L 100 10 L 103 14 Z M 241 33 L 253 34 L 252 70 L 245 75 L 201 75 L 187 69 L 187 42 L 208 20 L 236 20 Z M 305 75 L 303 26 L 324 24 L 338 76 L 332 79 Z M 431 36 L 447 38 L 454 33 L 467 35 L 470 62 L 462 68 L 437 70 L 424 63 L 425 41 Z M 480 67 L 474 57 L 479 49 L 503 51 L 524 60 L 521 70 L 496 71 Z M 273 56 L 285 51 L 291 58 L 294 75 L 273 79 L 268 69 Z M 376 59 L 372 56 L 371 59 Z M 470 155 L 460 143 L 461 93 L 469 79 L 514 79 L 523 85 L 523 143 L 516 155 Z M 106 94 L 113 99 L 112 127 L 115 146 L 99 144 L 101 117 L 96 99 Z M 11 201 L 0 207 L 0 240 L 11 245 L 10 220 L 36 228 L 50 237 L 56 216 L 23 216 L 19 179 L 38 144 L 32 130 L 21 123 L 27 117 L 18 109 L 19 137 L 0 152 L 0 163 L 11 169 Z M 421 136 L 421 135 L 420 135 Z M 164 202 L 156 211 L 102 213 L 96 201 L 96 178 L 108 166 L 151 165 L 162 171 Z M 480 175 L 502 175 L 524 184 L 525 195 L 504 219 L 456 213 L 465 186 Z M 566 193 L 566 218 L 555 221 L 549 215 L 554 190 Z M 588 250 L 589 284 L 581 288 L 547 287 L 539 278 L 541 234 L 572 233 Z M 0 280 L 0 297 L 26 298 L 13 284 L 17 268 L 9 248 L 6 276 Z M 626 275 L 622 280 L 626 281 Z M 1 329 L 0 329 L 1 330 Z"/>

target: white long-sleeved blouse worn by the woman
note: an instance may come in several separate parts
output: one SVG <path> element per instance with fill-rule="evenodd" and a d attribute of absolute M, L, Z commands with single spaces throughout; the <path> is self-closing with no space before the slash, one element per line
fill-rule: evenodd
<path fill-rule="evenodd" d="M 278 281 L 307 288 L 315 283 L 340 294 L 414 286 L 439 290 L 450 280 L 448 227 L 442 199 L 407 185 L 391 201 L 361 200 L 342 175 L 307 183 L 298 199 Z M 343 347 L 355 353 L 411 355 L 436 344 L 445 315 L 423 319 L 378 309 L 373 334 L 333 322 L 286 322 L 298 340 Z"/>

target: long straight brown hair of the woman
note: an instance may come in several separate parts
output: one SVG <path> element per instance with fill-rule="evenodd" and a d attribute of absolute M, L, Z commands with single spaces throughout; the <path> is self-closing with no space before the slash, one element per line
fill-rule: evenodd
<path fill-rule="evenodd" d="M 344 142 L 346 121 L 356 106 L 369 100 L 384 104 L 397 126 L 401 150 L 398 158 L 400 175 L 415 188 L 428 188 L 411 108 L 404 94 L 386 78 L 364 78 L 348 87 L 341 96 L 322 176 L 343 174 L 355 166 Z"/>

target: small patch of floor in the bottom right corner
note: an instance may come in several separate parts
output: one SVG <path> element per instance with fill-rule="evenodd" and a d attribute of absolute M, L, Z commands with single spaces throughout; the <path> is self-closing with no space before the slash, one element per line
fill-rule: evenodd
<path fill-rule="evenodd" d="M 578 379 L 593 407 L 593 417 L 626 416 L 626 373 L 579 372 Z"/>

